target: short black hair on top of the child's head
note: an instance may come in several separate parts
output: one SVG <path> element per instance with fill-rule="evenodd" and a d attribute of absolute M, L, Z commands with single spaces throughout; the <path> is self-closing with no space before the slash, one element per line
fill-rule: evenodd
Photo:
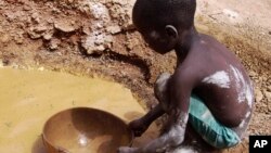
<path fill-rule="evenodd" d="M 137 0 L 132 20 L 136 27 L 173 25 L 188 29 L 194 25 L 195 10 L 196 0 Z"/>

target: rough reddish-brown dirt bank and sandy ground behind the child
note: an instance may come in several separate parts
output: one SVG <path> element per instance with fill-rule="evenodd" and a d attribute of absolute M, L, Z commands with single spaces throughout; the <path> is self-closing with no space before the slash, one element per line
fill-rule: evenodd
<path fill-rule="evenodd" d="M 0 63 L 101 76 L 130 88 L 151 109 L 153 82 L 176 56 L 152 52 L 131 23 L 134 0 L 0 0 Z M 255 82 L 248 135 L 271 135 L 271 2 L 201 0 L 196 27 L 216 37 Z M 160 62 L 163 61 L 163 62 Z M 247 140 L 224 152 L 248 152 Z"/>

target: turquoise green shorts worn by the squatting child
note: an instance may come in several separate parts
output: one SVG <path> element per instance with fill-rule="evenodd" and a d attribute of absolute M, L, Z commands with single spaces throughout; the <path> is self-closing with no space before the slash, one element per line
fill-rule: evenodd
<path fill-rule="evenodd" d="M 195 94 L 190 98 L 189 122 L 195 131 L 215 148 L 231 148 L 241 141 L 235 131 L 216 120 L 208 107 Z"/>

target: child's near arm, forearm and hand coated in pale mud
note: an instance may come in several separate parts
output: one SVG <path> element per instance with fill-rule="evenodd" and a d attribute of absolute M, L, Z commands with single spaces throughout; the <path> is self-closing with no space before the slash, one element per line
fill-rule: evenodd
<path fill-rule="evenodd" d="M 185 127 L 189 119 L 189 103 L 194 75 L 191 72 L 179 71 L 170 79 L 170 104 L 166 111 L 169 115 L 169 129 L 159 138 L 151 141 L 143 148 L 120 148 L 120 153 L 152 153 L 166 151 L 169 148 L 177 146 L 184 139 Z M 191 76 L 192 75 L 192 76 Z"/>

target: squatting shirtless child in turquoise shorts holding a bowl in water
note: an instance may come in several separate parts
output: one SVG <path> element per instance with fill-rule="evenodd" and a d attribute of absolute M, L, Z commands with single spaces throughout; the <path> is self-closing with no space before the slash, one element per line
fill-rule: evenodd
<path fill-rule="evenodd" d="M 156 118 L 168 115 L 166 131 L 142 148 L 119 148 L 119 153 L 155 153 L 183 142 L 186 124 L 217 149 L 240 143 L 250 120 L 253 86 L 241 62 L 210 36 L 194 26 L 196 0 L 137 0 L 133 23 L 158 53 L 175 50 L 177 68 L 155 85 L 159 104 L 129 124 L 141 136 Z"/>

